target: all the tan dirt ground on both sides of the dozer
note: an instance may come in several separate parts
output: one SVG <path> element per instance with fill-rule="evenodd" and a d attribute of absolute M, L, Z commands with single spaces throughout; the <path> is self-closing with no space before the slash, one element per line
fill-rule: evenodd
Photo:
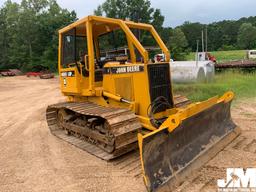
<path fill-rule="evenodd" d="M 107 163 L 50 134 L 45 109 L 64 101 L 58 88 L 56 78 L 0 78 L 0 191 L 146 191 L 138 157 Z M 256 98 L 232 116 L 242 135 L 176 191 L 216 191 L 226 167 L 256 167 Z"/>

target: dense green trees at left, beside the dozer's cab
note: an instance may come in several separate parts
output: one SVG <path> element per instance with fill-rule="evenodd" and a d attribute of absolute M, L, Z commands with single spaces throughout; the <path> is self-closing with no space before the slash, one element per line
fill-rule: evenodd
<path fill-rule="evenodd" d="M 35 65 L 57 69 L 58 29 L 75 21 L 74 11 L 56 0 L 11 0 L 0 9 L 0 68 L 31 70 Z"/>

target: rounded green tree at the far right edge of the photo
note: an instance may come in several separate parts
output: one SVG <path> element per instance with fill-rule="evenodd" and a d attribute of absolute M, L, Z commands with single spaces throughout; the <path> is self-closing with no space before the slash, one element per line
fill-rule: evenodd
<path fill-rule="evenodd" d="M 251 23 L 243 23 L 239 28 L 237 37 L 238 46 L 242 49 L 253 49 L 256 47 L 256 27 Z"/>

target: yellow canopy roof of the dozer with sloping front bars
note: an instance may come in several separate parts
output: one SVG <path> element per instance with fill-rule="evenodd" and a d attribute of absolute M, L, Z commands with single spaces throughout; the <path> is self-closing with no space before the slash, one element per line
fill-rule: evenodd
<path fill-rule="evenodd" d="M 89 30 L 86 30 L 86 29 Z M 141 45 L 141 43 L 138 41 L 138 39 L 135 37 L 133 32 L 130 29 L 142 29 L 149 31 L 153 38 L 158 43 L 159 47 L 162 49 L 163 53 L 166 55 L 166 61 L 170 60 L 170 53 L 155 31 L 154 27 L 149 24 L 145 23 L 135 23 L 132 21 L 124 21 L 121 19 L 113 19 L 113 18 L 106 18 L 106 17 L 100 17 L 100 16 L 87 16 L 83 19 L 80 19 L 67 27 L 64 27 L 63 29 L 59 30 L 60 34 L 66 34 L 71 32 L 75 29 L 75 34 L 78 36 L 93 36 L 92 38 L 97 38 L 100 35 L 104 35 L 106 33 L 109 33 L 111 31 L 121 29 L 128 41 L 134 45 L 138 51 L 141 53 L 141 55 L 144 58 L 144 62 L 146 63 L 148 61 L 148 52 L 144 49 L 144 47 Z"/>

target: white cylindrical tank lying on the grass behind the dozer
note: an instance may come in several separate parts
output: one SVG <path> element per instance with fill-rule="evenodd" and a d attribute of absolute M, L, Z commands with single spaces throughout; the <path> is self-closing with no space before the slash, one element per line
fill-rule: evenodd
<path fill-rule="evenodd" d="M 212 61 L 171 61 L 171 78 L 174 83 L 211 82 L 215 68 Z"/>

